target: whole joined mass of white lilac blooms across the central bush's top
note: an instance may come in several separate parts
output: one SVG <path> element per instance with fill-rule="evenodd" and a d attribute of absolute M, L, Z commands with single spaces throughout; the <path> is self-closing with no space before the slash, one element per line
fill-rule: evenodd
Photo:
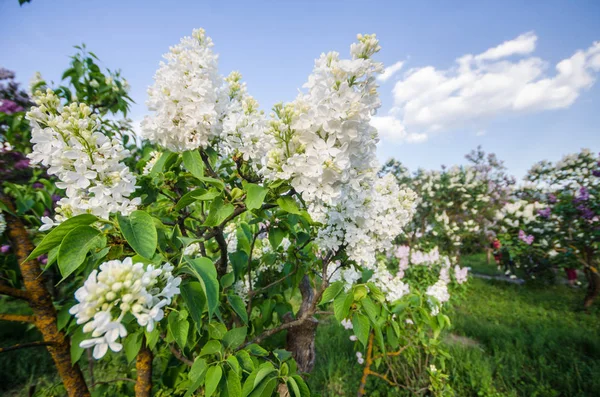
<path fill-rule="evenodd" d="M 379 49 L 374 35 L 359 35 L 351 59 L 323 54 L 307 91 L 276 105 L 267 122 L 239 73 L 219 76 L 212 40 L 196 30 L 165 55 L 149 90 L 154 114 L 142 123 L 143 135 L 173 151 L 214 145 L 252 160 L 268 181 L 290 181 L 324 225 L 321 249 L 346 246 L 355 262 L 374 266 L 375 252 L 389 248 L 416 200 L 376 174 L 378 138 L 370 120 L 380 106 L 376 74 L 383 66 L 371 57 Z"/>

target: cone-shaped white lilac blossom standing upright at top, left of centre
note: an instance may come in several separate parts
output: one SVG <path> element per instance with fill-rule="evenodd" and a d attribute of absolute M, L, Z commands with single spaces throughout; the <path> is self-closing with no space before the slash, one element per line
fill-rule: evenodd
<path fill-rule="evenodd" d="M 227 104 L 218 56 L 204 29 L 170 48 L 148 89 L 142 136 L 174 152 L 206 148 L 220 135 Z"/>

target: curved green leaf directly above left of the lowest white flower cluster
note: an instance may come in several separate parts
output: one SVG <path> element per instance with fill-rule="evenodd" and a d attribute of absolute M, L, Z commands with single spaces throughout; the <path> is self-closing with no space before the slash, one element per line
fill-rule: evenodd
<path fill-rule="evenodd" d="M 71 230 L 58 249 L 58 269 L 63 279 L 83 264 L 87 253 L 106 245 L 106 237 L 91 226 L 79 226 Z"/>

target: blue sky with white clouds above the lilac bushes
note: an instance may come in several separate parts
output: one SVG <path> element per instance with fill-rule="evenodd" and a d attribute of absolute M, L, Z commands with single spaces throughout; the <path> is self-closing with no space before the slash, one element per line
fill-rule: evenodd
<path fill-rule="evenodd" d="M 534 161 L 600 151 L 598 16 L 597 1 L 4 0 L 0 66 L 24 83 L 35 71 L 58 81 L 86 43 L 122 70 L 140 120 L 161 55 L 203 27 L 221 72 L 241 71 L 268 109 L 296 96 L 321 52 L 347 56 L 356 33 L 376 33 L 377 59 L 402 62 L 380 87 L 382 161 L 437 168 L 481 144 L 521 176 Z M 465 72 L 456 60 L 467 54 Z"/>

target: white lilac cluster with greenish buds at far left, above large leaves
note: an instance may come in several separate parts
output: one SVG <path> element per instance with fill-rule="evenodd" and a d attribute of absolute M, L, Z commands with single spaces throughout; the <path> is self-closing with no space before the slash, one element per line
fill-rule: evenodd
<path fill-rule="evenodd" d="M 91 213 L 108 219 L 111 213 L 128 215 L 140 204 L 129 199 L 136 178 L 121 161 L 129 152 L 117 140 L 97 130 L 99 120 L 85 104 L 62 106 L 51 90 L 38 92 L 37 106 L 27 113 L 31 122 L 33 164 L 48 167 L 56 175 L 56 186 L 66 190 L 57 203 L 54 220 L 43 217 L 40 230 L 48 230 L 65 219 Z"/>

